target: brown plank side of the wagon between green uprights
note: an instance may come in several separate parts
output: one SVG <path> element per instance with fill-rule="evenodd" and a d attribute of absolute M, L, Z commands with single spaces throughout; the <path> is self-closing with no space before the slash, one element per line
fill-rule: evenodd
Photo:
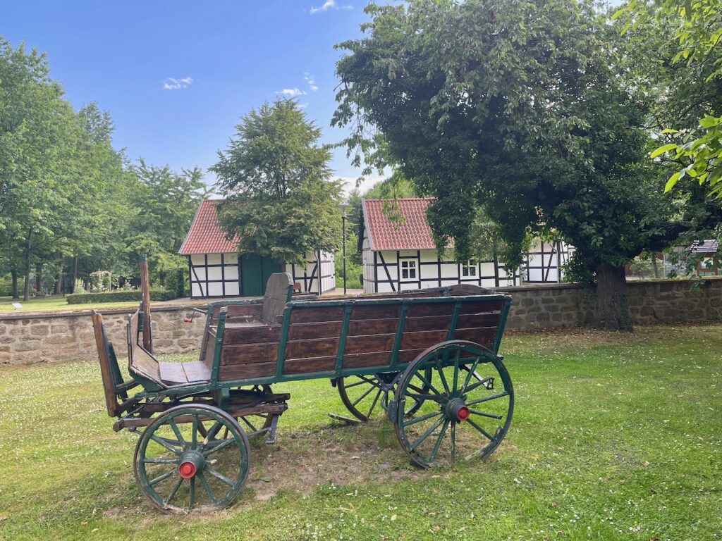
<path fill-rule="evenodd" d="M 283 347 L 284 375 L 333 371 L 339 359 L 342 369 L 391 369 L 448 339 L 471 340 L 492 348 L 504 303 L 504 299 L 415 300 L 403 310 L 401 300 L 352 304 L 348 310 L 348 305 L 332 303 L 292 305 L 283 346 L 281 325 L 225 330 L 219 379 L 274 376 L 279 347 Z M 403 325 L 400 334 L 399 325 Z"/>

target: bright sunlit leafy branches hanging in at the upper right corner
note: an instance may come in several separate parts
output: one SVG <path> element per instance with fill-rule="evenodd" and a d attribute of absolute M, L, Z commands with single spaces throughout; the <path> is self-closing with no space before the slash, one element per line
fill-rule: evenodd
<path fill-rule="evenodd" d="M 665 144 L 651 157 L 666 154 L 677 165 L 665 192 L 687 177 L 705 185 L 711 198 L 721 198 L 722 1 L 630 0 L 614 17 L 625 22 L 624 32 L 658 32 L 664 40 L 656 65 L 669 66 L 664 86 L 673 114 L 660 127 Z"/>

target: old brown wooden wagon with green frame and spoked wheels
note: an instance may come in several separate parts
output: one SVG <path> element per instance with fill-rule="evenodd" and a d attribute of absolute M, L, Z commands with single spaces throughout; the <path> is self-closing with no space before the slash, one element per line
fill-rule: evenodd
<path fill-rule="evenodd" d="M 101 315 L 92 317 L 113 428 L 140 434 L 139 487 L 162 511 L 189 511 L 221 509 L 238 495 L 248 439 L 274 441 L 287 409 L 290 395 L 271 385 L 287 381 L 331 379 L 360 421 L 385 410 L 423 467 L 490 454 L 513 412 L 497 353 L 510 302 L 477 286 L 294 299 L 290 276 L 279 273 L 263 299 L 209 305 L 197 361 L 158 361 L 149 309 L 130 315 L 128 381 Z"/>

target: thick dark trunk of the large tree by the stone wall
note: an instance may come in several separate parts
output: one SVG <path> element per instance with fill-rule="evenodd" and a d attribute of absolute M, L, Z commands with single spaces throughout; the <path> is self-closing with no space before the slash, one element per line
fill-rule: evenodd
<path fill-rule="evenodd" d="M 598 263 L 596 274 L 596 313 L 599 325 L 610 330 L 632 331 L 632 318 L 627 304 L 627 280 L 624 265 L 615 267 Z"/>

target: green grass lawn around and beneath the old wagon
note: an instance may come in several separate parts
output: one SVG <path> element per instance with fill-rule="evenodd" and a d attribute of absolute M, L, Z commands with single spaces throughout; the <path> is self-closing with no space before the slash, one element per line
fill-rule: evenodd
<path fill-rule="evenodd" d="M 722 325 L 509 335 L 502 351 L 516 410 L 488 459 L 418 470 L 382 417 L 333 423 L 328 380 L 279 384 L 277 443 L 254 444 L 238 501 L 201 516 L 144 502 L 97 361 L 0 367 L 0 538 L 722 538 Z"/>

